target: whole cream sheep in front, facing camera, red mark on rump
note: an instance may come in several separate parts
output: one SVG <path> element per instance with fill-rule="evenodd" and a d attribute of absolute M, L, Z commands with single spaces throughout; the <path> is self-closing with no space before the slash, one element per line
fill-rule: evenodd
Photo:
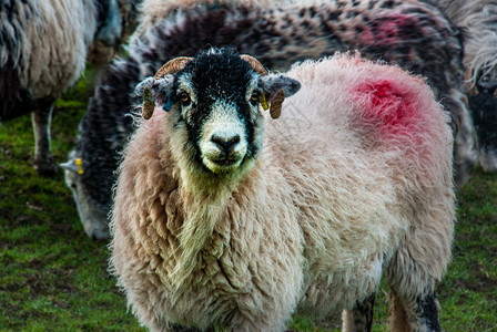
<path fill-rule="evenodd" d="M 440 330 L 453 135 L 424 79 L 347 54 L 268 74 L 210 49 L 136 86 L 150 92 L 110 243 L 141 324 L 284 331 L 345 310 L 345 331 L 371 330 L 384 274 L 393 330 Z"/>

